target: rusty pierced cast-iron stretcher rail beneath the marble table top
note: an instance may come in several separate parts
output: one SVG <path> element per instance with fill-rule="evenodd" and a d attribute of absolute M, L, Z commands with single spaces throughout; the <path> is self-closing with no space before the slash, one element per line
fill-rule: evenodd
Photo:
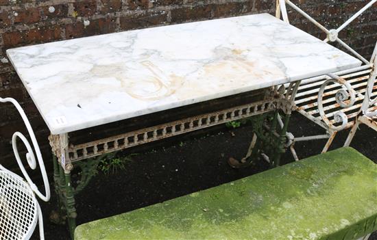
<path fill-rule="evenodd" d="M 130 148 L 139 144 L 153 142 L 158 139 L 189 133 L 198 129 L 204 129 L 209 126 L 223 124 L 226 122 L 247 118 L 267 111 L 273 111 L 280 107 L 282 99 L 267 99 L 247 105 L 232 107 L 221 111 L 215 111 L 209 114 L 185 118 L 175 122 L 160 124 L 150 128 L 141 129 L 129 133 L 123 133 L 105 139 L 99 139 L 94 142 L 88 142 L 80 145 L 69 146 L 69 159 L 79 161 L 90 157 L 95 157 L 107 152 L 113 152 L 124 148 Z"/>

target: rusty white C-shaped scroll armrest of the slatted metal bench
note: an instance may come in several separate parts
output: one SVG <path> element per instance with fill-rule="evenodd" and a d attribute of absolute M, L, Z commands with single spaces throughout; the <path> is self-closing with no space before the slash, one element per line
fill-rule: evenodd
<path fill-rule="evenodd" d="M 348 124 L 348 117 L 343 113 L 343 111 L 338 111 L 337 113 L 334 114 L 334 120 L 337 123 L 341 123 L 341 125 L 335 126 L 328 120 L 328 117 L 325 114 L 324 111 L 324 105 L 323 105 L 323 98 L 324 98 L 324 92 L 326 89 L 326 86 L 329 85 L 330 83 L 339 83 L 343 86 L 345 86 L 346 90 L 343 88 L 335 94 L 335 100 L 339 104 L 340 107 L 342 108 L 348 108 L 354 105 L 355 102 L 355 91 L 352 89 L 352 86 L 350 83 L 345 81 L 345 79 L 342 79 L 341 77 L 333 74 L 328 74 L 329 77 L 332 79 L 326 80 L 322 85 L 321 88 L 319 88 L 318 92 L 318 111 L 319 115 L 321 116 L 322 120 L 328 125 L 330 129 L 333 131 L 341 131 L 347 126 Z"/>

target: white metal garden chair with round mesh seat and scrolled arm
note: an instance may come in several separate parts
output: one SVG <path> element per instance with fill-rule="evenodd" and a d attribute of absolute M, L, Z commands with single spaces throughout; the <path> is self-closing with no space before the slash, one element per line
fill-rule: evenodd
<path fill-rule="evenodd" d="M 13 98 L 0 98 L 0 103 L 6 102 L 12 103 L 19 111 L 23 122 L 25 122 L 30 139 L 32 139 L 36 155 L 34 155 L 32 146 L 22 133 L 16 132 L 13 134 L 12 146 L 14 155 L 26 181 L 21 176 L 10 172 L 10 170 L 0 165 L 0 239 L 29 239 L 36 228 L 37 222 L 39 222 L 40 239 L 44 239 L 42 213 L 36 196 L 45 202 L 50 198 L 49 181 L 45 165 L 32 126 L 30 126 L 25 112 Z M 38 190 L 38 187 L 33 183 L 21 162 L 17 148 L 18 138 L 21 139 L 27 148 L 26 160 L 32 170 L 36 169 L 36 160 L 38 161 L 45 185 L 45 194 L 42 194 Z"/>

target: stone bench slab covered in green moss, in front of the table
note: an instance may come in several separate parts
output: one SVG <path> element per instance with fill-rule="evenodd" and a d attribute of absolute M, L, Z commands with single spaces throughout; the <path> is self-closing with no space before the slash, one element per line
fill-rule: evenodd
<path fill-rule="evenodd" d="M 376 184 L 375 163 L 339 148 L 82 224 L 75 239 L 358 239 L 377 230 Z"/>

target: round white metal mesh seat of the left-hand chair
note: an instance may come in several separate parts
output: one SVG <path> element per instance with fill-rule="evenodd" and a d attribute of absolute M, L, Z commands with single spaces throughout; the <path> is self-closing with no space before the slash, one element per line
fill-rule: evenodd
<path fill-rule="evenodd" d="M 0 240 L 27 239 L 34 230 L 38 206 L 22 178 L 0 170 Z"/>

